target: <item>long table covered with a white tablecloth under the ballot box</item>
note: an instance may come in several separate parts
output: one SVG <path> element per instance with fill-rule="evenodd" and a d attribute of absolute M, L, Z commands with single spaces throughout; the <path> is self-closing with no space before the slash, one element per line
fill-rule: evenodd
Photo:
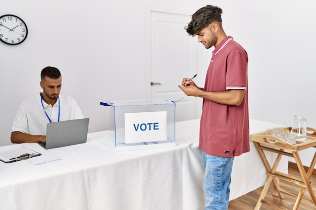
<path fill-rule="evenodd" d="M 273 123 L 250 121 L 250 132 Z M 199 119 L 176 123 L 176 147 L 115 152 L 109 131 L 88 134 L 87 143 L 44 150 L 62 160 L 33 165 L 29 160 L 0 163 L 0 206 L 6 210 L 194 210 L 203 209 L 203 163 L 198 149 Z M 264 184 L 266 170 L 252 143 L 251 152 L 236 157 L 231 199 Z M 268 154 L 268 159 L 274 159 Z M 30 159 L 31 160 L 31 159 Z M 281 161 L 287 172 L 287 160 Z"/>

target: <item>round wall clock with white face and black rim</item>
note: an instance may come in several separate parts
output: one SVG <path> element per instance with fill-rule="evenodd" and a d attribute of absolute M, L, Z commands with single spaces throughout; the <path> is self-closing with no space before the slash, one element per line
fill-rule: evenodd
<path fill-rule="evenodd" d="M 0 40 L 6 44 L 20 44 L 27 36 L 24 21 L 15 15 L 0 17 Z"/>

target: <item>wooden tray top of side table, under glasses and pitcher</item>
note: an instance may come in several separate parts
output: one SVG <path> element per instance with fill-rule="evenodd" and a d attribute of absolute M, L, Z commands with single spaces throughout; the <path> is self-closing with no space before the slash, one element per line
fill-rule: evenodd
<path fill-rule="evenodd" d="M 289 130 L 292 129 L 292 127 L 285 128 Z M 316 147 L 316 130 L 314 128 L 307 127 L 307 138 L 304 141 L 296 141 L 296 144 L 290 144 L 276 136 L 267 135 L 266 132 L 252 134 L 250 135 L 250 140 L 260 144 L 297 152 L 306 148 Z"/>

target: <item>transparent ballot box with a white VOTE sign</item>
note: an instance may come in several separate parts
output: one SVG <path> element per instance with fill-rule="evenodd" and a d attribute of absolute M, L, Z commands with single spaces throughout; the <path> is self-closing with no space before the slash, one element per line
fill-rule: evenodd
<path fill-rule="evenodd" d="M 116 151 L 176 146 L 176 104 L 166 100 L 107 101 Z"/>

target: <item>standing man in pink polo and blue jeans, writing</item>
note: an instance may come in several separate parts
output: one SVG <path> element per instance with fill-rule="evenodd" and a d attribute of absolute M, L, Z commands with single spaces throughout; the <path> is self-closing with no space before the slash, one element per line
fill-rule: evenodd
<path fill-rule="evenodd" d="M 204 88 L 184 78 L 179 88 L 187 96 L 203 98 L 199 148 L 205 176 L 205 210 L 228 209 L 235 156 L 249 152 L 247 52 L 227 36 L 222 9 L 207 5 L 196 11 L 185 28 L 206 49 L 214 46 Z"/>

